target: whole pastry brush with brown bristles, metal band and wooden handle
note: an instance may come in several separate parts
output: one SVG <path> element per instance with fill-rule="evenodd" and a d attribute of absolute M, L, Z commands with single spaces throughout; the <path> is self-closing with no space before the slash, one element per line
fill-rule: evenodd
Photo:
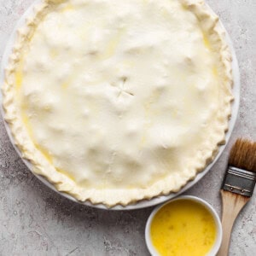
<path fill-rule="evenodd" d="M 230 159 L 220 190 L 222 197 L 223 241 L 218 256 L 229 253 L 233 224 L 242 207 L 253 195 L 256 182 L 256 143 L 237 139 L 230 151 Z"/>

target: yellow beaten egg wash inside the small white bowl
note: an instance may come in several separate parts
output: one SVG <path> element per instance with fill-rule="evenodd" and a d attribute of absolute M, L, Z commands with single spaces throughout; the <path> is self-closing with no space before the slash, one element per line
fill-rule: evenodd
<path fill-rule="evenodd" d="M 173 201 L 153 218 L 150 235 L 161 256 L 205 256 L 216 239 L 207 208 L 190 200 Z"/>

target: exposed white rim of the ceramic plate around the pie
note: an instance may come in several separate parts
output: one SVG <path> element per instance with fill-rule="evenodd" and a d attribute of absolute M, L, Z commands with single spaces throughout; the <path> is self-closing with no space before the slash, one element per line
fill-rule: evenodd
<path fill-rule="evenodd" d="M 35 1 L 34 3 L 32 3 L 32 6 L 26 10 L 25 14 L 22 15 L 22 17 L 20 18 L 20 20 L 17 22 L 17 25 L 15 26 L 15 30 L 14 32 L 12 33 L 12 35 L 10 36 L 9 38 L 9 42 L 8 44 L 6 45 L 6 49 L 3 53 L 3 59 L 2 59 L 2 63 L 1 63 L 1 78 L 0 78 L 0 83 L 3 84 L 3 80 L 4 80 L 4 68 L 7 66 L 7 63 L 9 61 L 9 55 L 12 51 L 12 48 L 13 48 L 13 45 L 15 44 L 15 39 L 16 39 L 16 31 L 25 25 L 25 20 L 26 20 L 26 17 L 32 15 L 32 12 L 33 12 L 33 8 L 34 6 L 36 6 L 38 3 L 42 2 L 42 0 L 37 0 Z M 209 7 L 210 9 L 210 7 Z M 212 9 L 210 9 L 212 11 Z M 219 26 L 223 26 L 223 24 L 221 22 L 219 22 Z M 229 131 L 226 133 L 225 135 L 225 141 L 226 143 L 222 146 L 219 147 L 219 150 L 218 150 L 218 154 L 216 155 L 215 159 L 212 161 L 212 163 L 210 165 L 208 165 L 204 171 L 202 172 L 199 172 L 195 179 L 190 181 L 189 183 L 187 183 L 183 189 L 180 189 L 178 192 L 176 193 L 171 193 L 169 195 L 161 195 L 161 196 L 157 196 L 157 197 L 154 197 L 153 199 L 151 200 L 143 200 L 143 201 L 137 201 L 137 203 L 134 203 L 134 204 L 129 204 L 125 207 L 121 206 L 121 205 L 117 205 L 115 207 L 111 207 L 111 208 L 108 208 L 106 206 L 104 206 L 103 204 L 96 204 L 96 205 L 93 205 L 91 204 L 89 201 L 84 201 L 84 202 L 81 202 L 81 201 L 78 201 L 76 200 L 75 198 L 73 198 L 73 196 L 71 195 L 67 195 L 66 193 L 63 193 L 63 192 L 60 192 L 58 191 L 57 189 L 55 189 L 54 185 L 52 185 L 51 183 L 49 183 L 44 177 L 40 176 L 40 175 L 37 175 L 35 173 L 32 172 L 32 164 L 28 161 L 28 160 L 25 160 L 21 157 L 21 153 L 20 153 L 20 150 L 19 148 L 17 148 L 15 146 L 15 142 L 14 142 L 14 138 L 12 137 L 11 135 L 11 131 L 9 129 L 9 125 L 5 122 L 4 122 L 4 125 L 5 125 L 5 128 L 6 128 L 6 131 L 9 135 L 9 139 L 11 141 L 11 143 L 13 144 L 16 152 L 20 155 L 20 158 L 23 160 L 23 162 L 26 164 L 26 166 L 28 167 L 29 170 L 31 170 L 31 172 L 36 176 L 38 177 L 38 179 L 43 182 L 45 185 L 47 185 L 50 189 L 53 189 L 55 190 L 55 192 L 57 192 L 58 194 L 60 195 L 63 195 L 64 197 L 66 197 L 67 199 L 71 200 L 71 201 L 75 201 L 75 202 L 78 202 L 80 204 L 83 204 L 83 205 L 86 205 L 86 206 L 90 206 L 90 207 L 96 207 L 96 208 L 101 208 L 101 209 L 108 209 L 108 210 L 133 210 L 133 209 L 140 209 L 140 208 L 144 208 L 144 207 L 152 207 L 154 205 L 157 205 L 157 204 L 160 204 L 160 203 L 163 203 L 165 201 L 168 201 L 174 197 L 176 197 L 177 195 L 180 195 L 182 194 L 184 191 L 186 191 L 187 189 L 191 188 L 193 185 L 195 185 L 195 183 L 197 183 L 202 177 L 204 177 L 207 172 L 209 172 L 212 168 L 212 166 L 214 165 L 214 163 L 218 160 L 219 156 L 223 153 L 224 151 L 224 148 L 226 146 L 226 144 L 228 143 L 229 139 L 230 139 L 230 135 L 231 135 L 231 132 L 233 131 L 233 128 L 235 126 L 235 123 L 236 123 L 236 117 L 237 117 L 237 113 L 238 113 L 238 109 L 239 109 L 239 101 L 240 101 L 240 73 L 239 73 L 239 67 L 238 67 L 238 62 L 237 62 L 237 59 L 236 59 L 236 52 L 235 52 L 235 49 L 233 47 L 233 44 L 230 40 L 230 36 L 229 34 L 226 32 L 226 41 L 227 43 L 229 44 L 230 46 L 230 50 L 231 50 L 231 54 L 232 54 L 232 69 L 233 69 L 233 79 L 234 79 L 234 85 L 233 85 L 233 90 L 232 90 L 232 93 L 233 93 L 233 96 L 235 98 L 234 102 L 232 103 L 232 109 L 231 109 L 231 118 L 230 118 L 230 121 L 229 121 Z M 2 95 L 0 93 L 0 100 L 2 102 Z M 2 107 L 2 103 L 1 103 L 1 113 L 2 113 L 2 116 L 4 116 L 4 111 L 3 111 L 3 107 Z"/>

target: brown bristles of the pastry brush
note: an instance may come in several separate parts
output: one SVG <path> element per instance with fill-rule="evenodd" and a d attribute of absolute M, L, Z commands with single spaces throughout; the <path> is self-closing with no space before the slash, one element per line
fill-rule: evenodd
<path fill-rule="evenodd" d="M 256 172 L 256 143 L 237 139 L 230 151 L 229 165 Z"/>

